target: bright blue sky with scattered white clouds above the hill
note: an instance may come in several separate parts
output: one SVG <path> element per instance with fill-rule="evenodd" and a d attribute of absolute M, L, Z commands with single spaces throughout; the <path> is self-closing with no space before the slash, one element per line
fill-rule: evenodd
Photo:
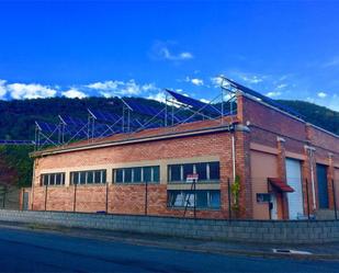
<path fill-rule="evenodd" d="M 336 1 L 1 1 L 0 98 L 211 100 L 225 75 L 339 111 Z"/>

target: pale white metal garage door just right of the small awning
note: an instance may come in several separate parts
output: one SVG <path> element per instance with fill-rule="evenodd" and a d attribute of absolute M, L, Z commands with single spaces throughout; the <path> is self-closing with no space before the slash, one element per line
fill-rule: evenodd
<path fill-rule="evenodd" d="M 297 219 L 298 216 L 304 215 L 301 161 L 286 159 L 286 180 L 294 190 L 293 193 L 287 194 L 290 219 Z"/>

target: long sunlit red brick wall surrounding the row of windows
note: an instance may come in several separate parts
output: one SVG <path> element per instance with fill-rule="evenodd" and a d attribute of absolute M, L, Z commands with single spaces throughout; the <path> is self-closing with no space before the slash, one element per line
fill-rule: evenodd
<path fill-rule="evenodd" d="M 231 141 L 229 133 L 201 135 L 149 141 L 143 144 L 114 146 L 47 156 L 36 159 L 34 209 L 45 209 L 45 187 L 39 185 L 43 170 L 59 168 L 81 168 L 98 164 L 127 163 L 145 160 L 179 159 L 203 156 L 218 156 L 221 159 L 221 211 L 197 211 L 197 216 L 225 218 L 228 215 L 227 178 L 231 177 Z M 108 170 L 109 172 L 112 169 Z M 109 181 L 110 183 L 112 181 Z M 49 186 L 47 190 L 47 211 L 74 211 L 75 189 L 70 186 Z M 78 185 L 76 192 L 77 212 L 105 211 L 105 185 Z M 148 185 L 149 215 L 182 216 L 182 209 L 167 207 L 167 184 Z M 109 213 L 145 214 L 145 185 L 109 186 Z M 192 215 L 192 212 L 188 212 Z"/>

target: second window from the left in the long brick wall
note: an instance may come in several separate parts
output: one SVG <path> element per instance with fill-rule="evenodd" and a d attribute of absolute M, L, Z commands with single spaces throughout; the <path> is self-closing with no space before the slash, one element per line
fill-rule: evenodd
<path fill-rule="evenodd" d="M 106 170 L 75 171 L 70 173 L 71 184 L 106 183 Z"/>

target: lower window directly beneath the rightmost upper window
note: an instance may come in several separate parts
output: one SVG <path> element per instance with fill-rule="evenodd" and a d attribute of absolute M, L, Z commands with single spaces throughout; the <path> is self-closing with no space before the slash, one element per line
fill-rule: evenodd
<path fill-rule="evenodd" d="M 221 207 L 221 191 L 216 190 L 196 190 L 194 191 L 168 191 L 169 207 L 194 207 L 196 198 L 196 208 Z"/>

